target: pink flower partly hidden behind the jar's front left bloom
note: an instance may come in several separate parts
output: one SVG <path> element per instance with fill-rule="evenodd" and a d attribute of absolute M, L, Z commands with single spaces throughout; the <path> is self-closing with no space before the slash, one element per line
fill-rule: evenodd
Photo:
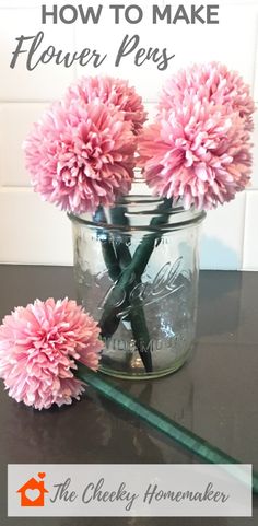
<path fill-rule="evenodd" d="M 83 77 L 72 85 L 66 95 L 66 103 L 72 101 L 89 104 L 99 100 L 105 105 L 115 106 L 125 114 L 125 120 L 129 120 L 132 131 L 138 135 L 146 120 L 146 113 L 134 87 L 128 85 L 128 81 L 113 79 L 110 77 Z"/>

